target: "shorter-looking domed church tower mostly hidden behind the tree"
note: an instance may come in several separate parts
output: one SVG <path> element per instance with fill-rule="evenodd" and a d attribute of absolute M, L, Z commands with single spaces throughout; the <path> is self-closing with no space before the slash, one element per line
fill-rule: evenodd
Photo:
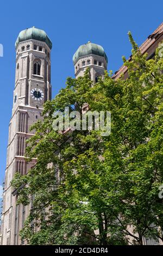
<path fill-rule="evenodd" d="M 76 78 L 83 76 L 86 68 L 90 68 L 91 80 L 98 82 L 98 77 L 104 78 L 104 70 L 107 69 L 108 58 L 101 45 L 87 42 L 80 45 L 73 56 L 74 72 Z"/>

